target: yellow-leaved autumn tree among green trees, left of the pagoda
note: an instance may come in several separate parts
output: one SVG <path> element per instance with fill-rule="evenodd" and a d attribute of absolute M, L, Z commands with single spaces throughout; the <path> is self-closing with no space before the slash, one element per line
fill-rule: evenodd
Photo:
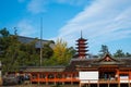
<path fill-rule="evenodd" d="M 58 39 L 53 47 L 53 55 L 46 63 L 47 65 L 67 65 L 73 53 L 72 48 L 68 48 L 66 41 Z"/>

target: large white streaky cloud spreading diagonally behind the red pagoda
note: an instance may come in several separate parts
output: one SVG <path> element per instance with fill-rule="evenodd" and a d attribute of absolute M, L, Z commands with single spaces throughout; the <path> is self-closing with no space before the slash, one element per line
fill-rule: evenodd
<path fill-rule="evenodd" d="M 74 46 L 72 41 L 80 37 L 81 29 L 91 47 L 131 38 L 130 3 L 131 0 L 95 0 L 61 27 L 56 38 L 63 38 Z"/>

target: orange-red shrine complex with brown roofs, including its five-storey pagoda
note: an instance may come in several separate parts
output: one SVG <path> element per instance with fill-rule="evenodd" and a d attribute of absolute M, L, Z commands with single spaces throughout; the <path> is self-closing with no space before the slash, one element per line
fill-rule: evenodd
<path fill-rule="evenodd" d="M 68 66 L 23 67 L 32 84 L 78 84 L 78 87 L 131 87 L 131 59 L 87 57 L 87 40 L 76 40 L 78 58 Z"/>

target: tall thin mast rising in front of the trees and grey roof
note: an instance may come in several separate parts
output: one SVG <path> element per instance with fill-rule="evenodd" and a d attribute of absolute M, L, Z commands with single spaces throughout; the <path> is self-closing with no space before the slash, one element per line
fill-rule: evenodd
<path fill-rule="evenodd" d="M 40 17 L 40 66 L 43 63 L 43 17 Z"/>

